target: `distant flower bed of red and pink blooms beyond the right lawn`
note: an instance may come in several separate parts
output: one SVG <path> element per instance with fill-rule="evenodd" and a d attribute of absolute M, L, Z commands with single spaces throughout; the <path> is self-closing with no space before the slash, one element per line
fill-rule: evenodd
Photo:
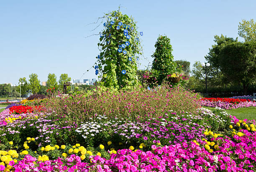
<path fill-rule="evenodd" d="M 249 99 L 230 99 L 230 98 L 202 98 L 201 106 L 220 107 L 223 109 L 237 109 L 243 107 L 256 106 L 256 101 Z"/>

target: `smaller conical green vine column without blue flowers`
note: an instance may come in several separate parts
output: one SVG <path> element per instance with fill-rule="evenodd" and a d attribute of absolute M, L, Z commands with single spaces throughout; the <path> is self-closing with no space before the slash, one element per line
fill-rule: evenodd
<path fill-rule="evenodd" d="M 160 85 L 167 75 L 176 72 L 177 64 L 173 61 L 172 46 L 167 36 L 160 35 L 155 44 L 156 51 L 151 56 L 154 58 L 152 63 L 152 73 Z"/>

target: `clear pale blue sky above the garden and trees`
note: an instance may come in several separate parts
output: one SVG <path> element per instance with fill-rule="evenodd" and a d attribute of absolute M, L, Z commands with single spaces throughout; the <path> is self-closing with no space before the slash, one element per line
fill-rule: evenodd
<path fill-rule="evenodd" d="M 98 33 L 90 32 L 98 17 L 122 6 L 133 16 L 141 37 L 144 68 L 152 61 L 157 37 L 171 39 L 174 60 L 203 62 L 214 44 L 214 35 L 238 37 L 242 19 L 256 19 L 256 0 L 24 0 L 0 4 L 0 83 L 17 84 L 20 77 L 38 74 L 46 81 L 49 73 L 59 78 L 68 73 L 80 78 L 98 55 Z M 238 40 L 243 41 L 242 38 Z M 82 79 L 96 78 L 91 69 Z"/>

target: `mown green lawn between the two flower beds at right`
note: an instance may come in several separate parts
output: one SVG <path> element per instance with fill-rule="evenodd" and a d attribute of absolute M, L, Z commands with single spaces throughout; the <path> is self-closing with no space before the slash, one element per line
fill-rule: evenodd
<path fill-rule="evenodd" d="M 203 106 L 204 108 L 213 110 L 215 108 Z M 236 116 L 237 119 L 248 119 L 248 120 L 256 120 L 256 107 L 248 107 L 248 108 L 238 108 L 238 109 L 226 109 L 228 114 Z"/>

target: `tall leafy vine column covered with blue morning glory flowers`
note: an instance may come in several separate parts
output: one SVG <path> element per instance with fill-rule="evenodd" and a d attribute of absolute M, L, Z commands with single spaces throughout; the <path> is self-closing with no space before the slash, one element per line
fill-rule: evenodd
<path fill-rule="evenodd" d="M 101 73 L 101 86 L 132 89 L 139 84 L 136 59 L 142 50 L 138 36 L 143 33 L 137 31 L 133 18 L 119 10 L 105 14 L 103 18 L 106 22 L 98 43 L 101 52 L 96 57 L 95 74 Z"/>

